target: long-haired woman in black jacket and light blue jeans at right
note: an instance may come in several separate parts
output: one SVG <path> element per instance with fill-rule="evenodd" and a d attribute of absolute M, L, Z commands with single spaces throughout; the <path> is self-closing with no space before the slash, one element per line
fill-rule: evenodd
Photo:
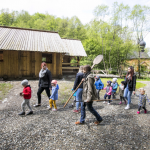
<path fill-rule="evenodd" d="M 125 109 L 130 108 L 131 103 L 131 95 L 132 92 L 135 94 L 135 88 L 136 88 L 136 75 L 134 74 L 134 68 L 130 66 L 128 68 L 128 72 L 125 78 L 125 90 L 124 90 L 124 97 L 127 99 L 128 104 L 125 107 Z"/>

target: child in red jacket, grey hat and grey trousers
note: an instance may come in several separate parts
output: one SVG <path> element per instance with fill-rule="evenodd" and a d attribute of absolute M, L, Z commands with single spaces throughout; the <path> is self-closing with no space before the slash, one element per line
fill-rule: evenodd
<path fill-rule="evenodd" d="M 32 108 L 30 106 L 30 98 L 31 98 L 31 87 L 28 85 L 28 80 L 23 80 L 21 82 L 21 85 L 24 87 L 23 92 L 20 93 L 20 96 L 24 97 L 24 101 L 21 104 L 22 107 L 22 112 L 19 113 L 18 115 L 25 115 L 25 106 L 27 105 L 30 109 L 30 111 L 27 113 L 27 115 L 33 114 Z"/>

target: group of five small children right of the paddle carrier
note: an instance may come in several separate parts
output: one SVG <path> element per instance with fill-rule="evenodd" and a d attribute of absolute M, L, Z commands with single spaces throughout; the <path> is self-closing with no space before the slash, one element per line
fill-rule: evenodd
<path fill-rule="evenodd" d="M 111 96 L 112 96 L 112 99 L 115 99 L 116 98 L 116 96 L 115 96 L 116 95 L 116 91 L 117 91 L 117 88 L 119 86 L 119 96 L 120 96 L 119 105 L 122 104 L 122 101 L 124 101 L 125 105 L 127 104 L 127 101 L 126 101 L 126 99 L 124 97 L 125 81 L 122 81 L 121 84 L 118 85 L 117 78 L 113 78 L 112 82 L 111 81 L 107 81 L 107 86 L 104 88 L 104 84 L 102 83 L 100 77 L 96 76 L 95 79 L 96 79 L 95 86 L 96 86 L 96 89 L 98 91 L 98 99 L 100 99 L 99 92 L 101 90 L 106 90 L 106 93 L 104 95 L 104 99 L 106 99 L 107 97 L 108 97 L 108 99 L 111 99 Z M 139 101 L 138 101 L 138 106 L 139 107 L 138 107 L 137 114 L 140 114 L 141 108 L 144 109 L 144 113 L 147 113 L 145 105 L 146 105 L 146 100 L 149 101 L 149 99 L 148 99 L 147 95 L 145 94 L 144 88 L 139 89 L 139 92 L 140 92 L 140 94 L 136 94 L 136 96 L 139 97 Z M 109 105 L 110 105 L 111 101 L 112 100 L 108 101 Z M 104 101 L 103 103 L 106 103 L 106 101 Z"/>

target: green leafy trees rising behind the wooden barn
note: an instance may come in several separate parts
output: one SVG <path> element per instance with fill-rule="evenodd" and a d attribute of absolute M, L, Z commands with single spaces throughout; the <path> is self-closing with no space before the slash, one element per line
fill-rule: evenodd
<path fill-rule="evenodd" d="M 0 25 L 56 31 L 62 38 L 82 41 L 88 57 L 81 64 L 92 64 L 95 56 L 103 54 L 103 62 L 97 68 L 122 72 L 127 56 L 137 48 L 135 39 L 148 30 L 147 18 L 150 7 L 128 5 L 115 2 L 111 8 L 106 5 L 94 9 L 95 19 L 86 25 L 78 17 L 59 18 L 50 14 L 3 9 L 0 12 Z M 69 12 L 68 12 L 69 13 Z M 130 24 L 130 26 L 129 26 Z M 133 34 L 136 31 L 136 35 Z M 136 36 L 136 37 L 133 37 Z"/>

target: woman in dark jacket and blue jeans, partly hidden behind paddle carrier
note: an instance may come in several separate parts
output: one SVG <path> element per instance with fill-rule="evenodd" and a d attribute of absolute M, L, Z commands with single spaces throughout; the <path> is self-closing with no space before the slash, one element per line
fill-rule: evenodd
<path fill-rule="evenodd" d="M 75 90 L 78 85 L 80 84 L 81 80 L 83 79 L 83 66 L 80 66 L 79 72 L 76 75 L 76 80 L 74 82 L 73 90 Z M 78 113 L 79 112 L 79 105 L 83 105 L 82 102 L 82 91 L 83 91 L 83 83 L 80 85 L 76 92 L 76 110 L 73 110 L 73 112 Z"/>

